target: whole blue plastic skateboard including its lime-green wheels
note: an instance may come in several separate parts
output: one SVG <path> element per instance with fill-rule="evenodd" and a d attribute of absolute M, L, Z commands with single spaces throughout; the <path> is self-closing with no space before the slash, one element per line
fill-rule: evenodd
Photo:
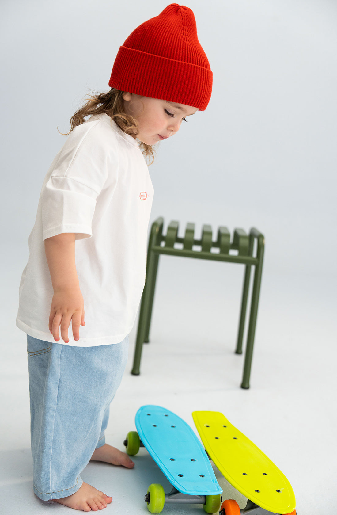
<path fill-rule="evenodd" d="M 202 504 L 206 513 L 220 508 L 222 490 L 201 442 L 186 422 L 161 406 L 142 406 L 135 417 L 137 432 L 131 431 L 124 444 L 127 453 L 145 447 L 172 485 L 165 493 L 152 484 L 145 495 L 150 513 L 159 513 L 165 503 Z"/>

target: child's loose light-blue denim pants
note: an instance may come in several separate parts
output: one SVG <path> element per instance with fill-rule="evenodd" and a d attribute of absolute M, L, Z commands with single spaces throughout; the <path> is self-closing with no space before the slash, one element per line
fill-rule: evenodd
<path fill-rule="evenodd" d="M 104 445 L 128 345 L 128 336 L 119 344 L 74 347 L 27 335 L 33 490 L 43 501 L 75 493 L 80 473 Z"/>

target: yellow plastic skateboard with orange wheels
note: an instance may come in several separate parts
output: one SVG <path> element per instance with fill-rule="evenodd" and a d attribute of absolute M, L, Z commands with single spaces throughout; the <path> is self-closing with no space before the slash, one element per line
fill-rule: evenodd
<path fill-rule="evenodd" d="M 236 501 L 225 500 L 219 515 L 268 515 L 268 512 L 296 515 L 293 489 L 268 456 L 222 413 L 194 411 L 192 416 L 210 459 L 227 481 L 248 499 L 244 510 L 240 510 Z"/>

